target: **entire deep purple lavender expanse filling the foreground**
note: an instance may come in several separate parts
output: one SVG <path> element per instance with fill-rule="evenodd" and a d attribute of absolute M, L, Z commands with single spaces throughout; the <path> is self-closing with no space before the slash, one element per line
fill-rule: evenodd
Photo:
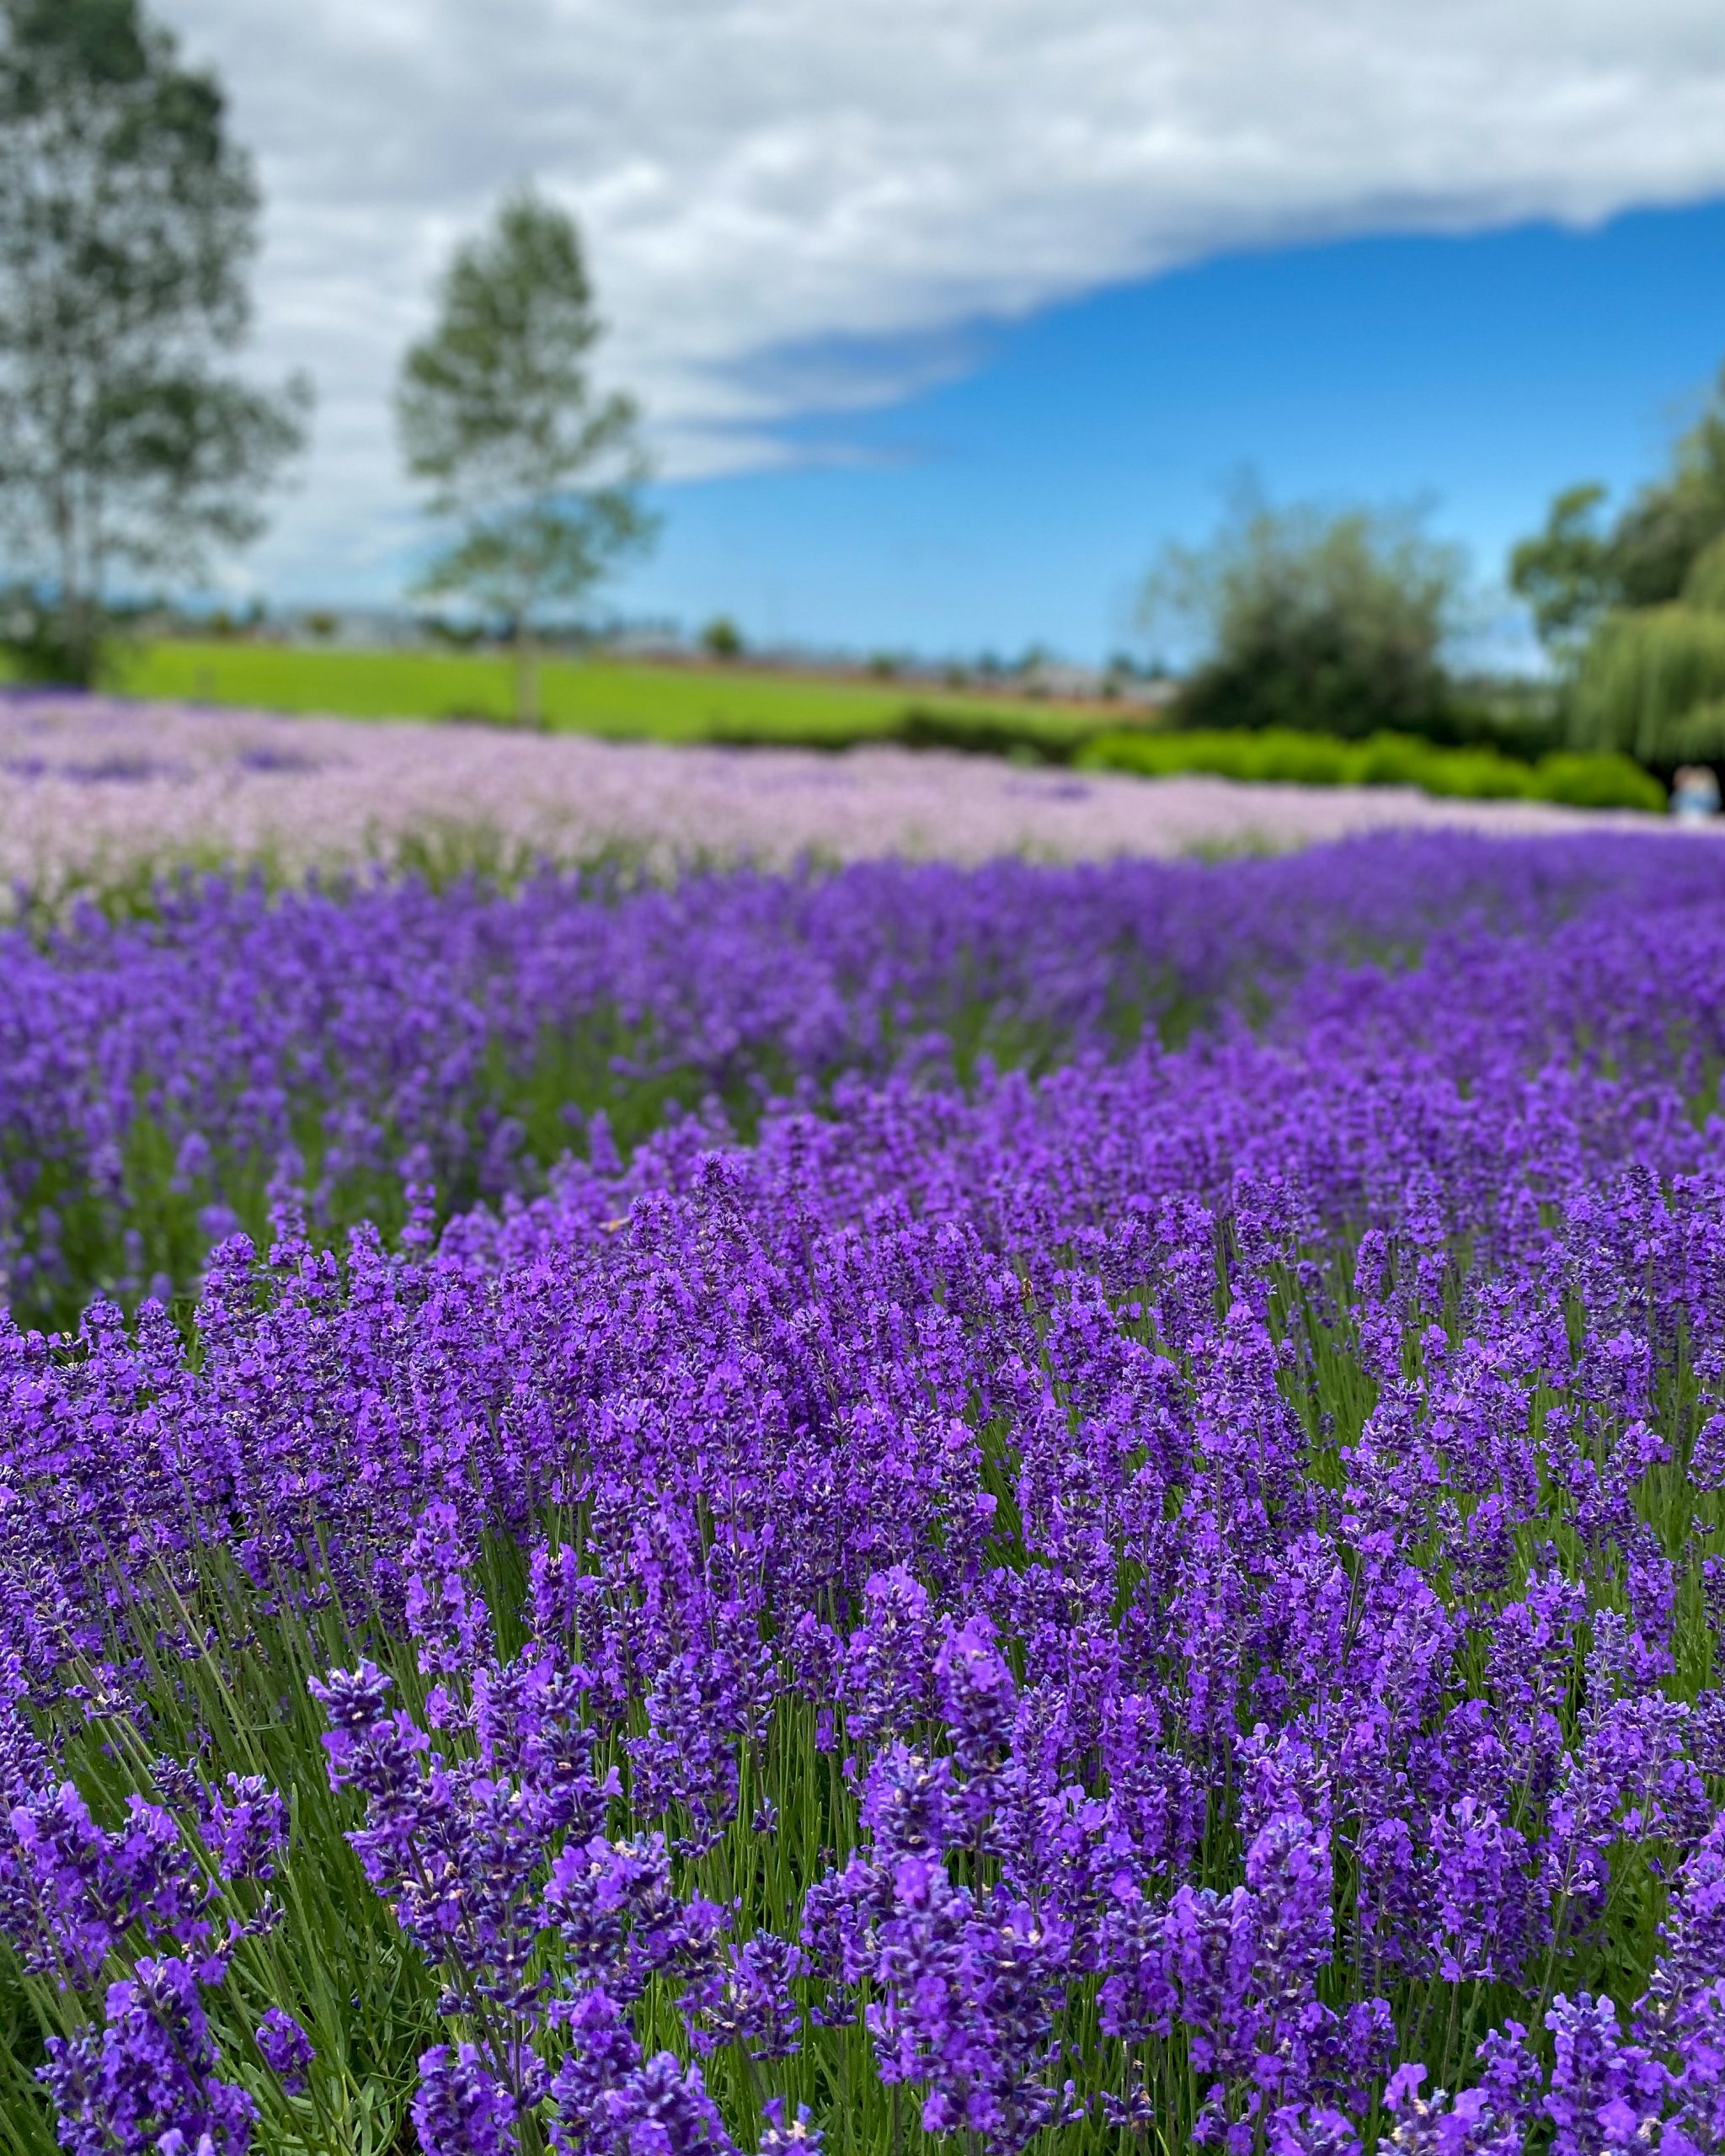
<path fill-rule="evenodd" d="M 0 2147 L 1725 2150 L 1725 852 L 0 942 Z"/>

